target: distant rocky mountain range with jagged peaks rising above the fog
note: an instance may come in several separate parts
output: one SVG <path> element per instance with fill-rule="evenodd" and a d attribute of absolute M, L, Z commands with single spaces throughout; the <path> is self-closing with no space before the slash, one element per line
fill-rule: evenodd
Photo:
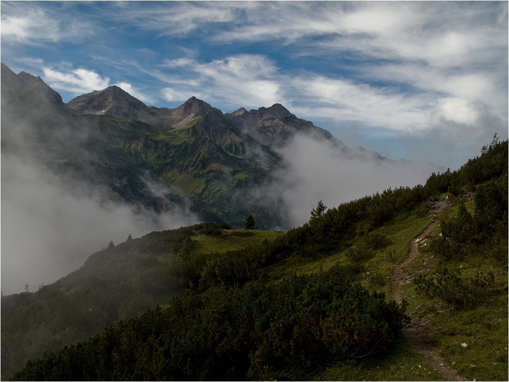
<path fill-rule="evenodd" d="M 288 163 L 279 150 L 297 134 L 327 141 L 345 158 L 388 161 L 350 149 L 280 104 L 223 113 L 189 98 L 169 109 L 147 106 L 118 86 L 68 103 L 40 77 L 2 64 L 2 149 L 43 163 L 66 184 L 83 183 L 117 200 L 163 212 L 189 205 L 203 220 L 287 227 L 285 206 L 252 192 Z M 276 211 L 277 210 L 277 211 Z"/>

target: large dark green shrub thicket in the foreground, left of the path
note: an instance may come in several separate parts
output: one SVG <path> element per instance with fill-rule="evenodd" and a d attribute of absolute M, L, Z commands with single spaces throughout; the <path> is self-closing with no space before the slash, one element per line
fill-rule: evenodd
<path fill-rule="evenodd" d="M 333 275 L 345 272 L 188 293 L 165 310 L 147 310 L 30 361 L 13 379 L 288 379 L 289 368 L 328 354 L 362 358 L 384 351 L 408 322 L 405 304 L 387 303 L 383 293 Z"/>

